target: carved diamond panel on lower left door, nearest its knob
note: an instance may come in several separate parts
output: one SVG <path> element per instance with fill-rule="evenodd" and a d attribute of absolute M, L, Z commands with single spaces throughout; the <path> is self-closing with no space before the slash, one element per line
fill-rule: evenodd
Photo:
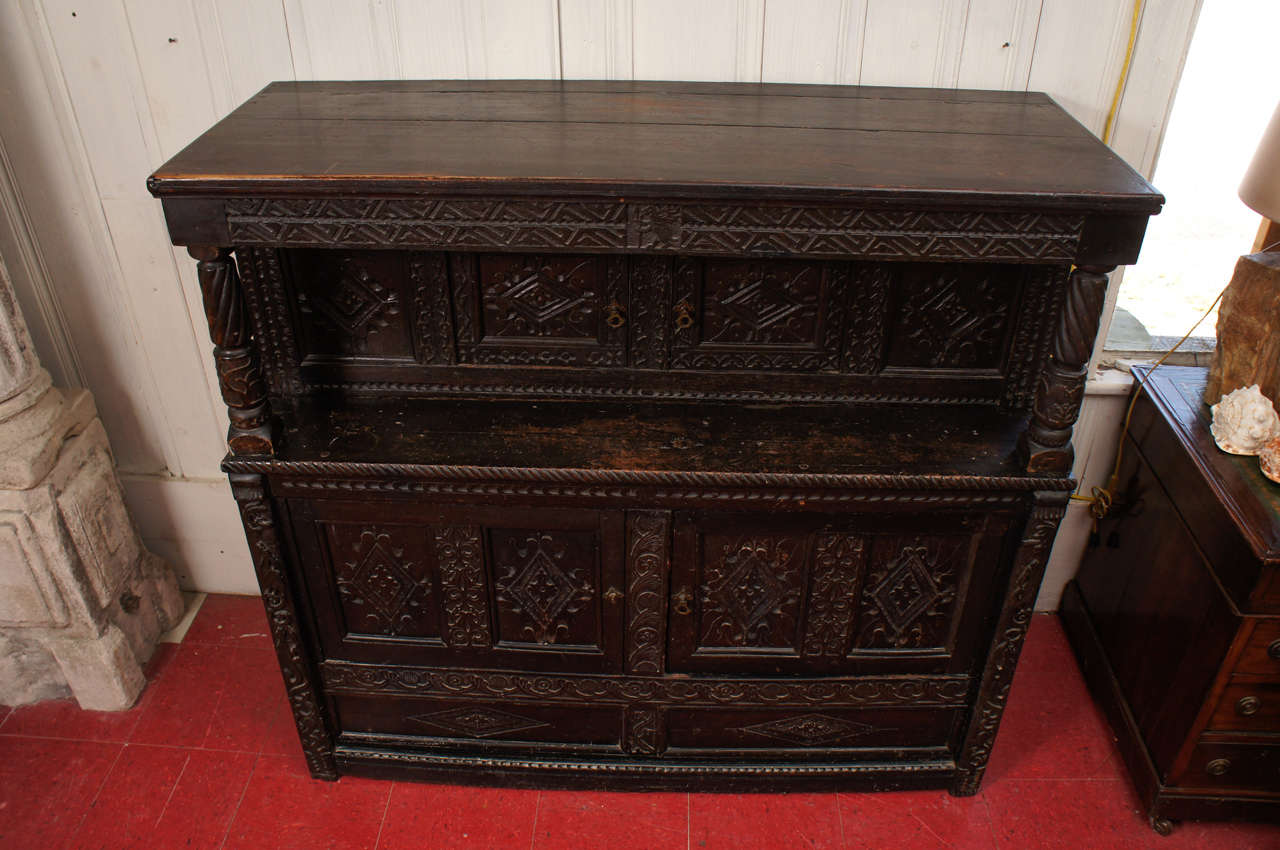
<path fill-rule="evenodd" d="M 593 535 L 492 531 L 502 639 L 599 645 Z"/>

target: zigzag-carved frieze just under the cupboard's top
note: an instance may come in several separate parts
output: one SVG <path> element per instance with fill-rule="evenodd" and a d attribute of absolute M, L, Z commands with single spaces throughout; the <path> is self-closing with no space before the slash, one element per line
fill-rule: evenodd
<path fill-rule="evenodd" d="M 842 206 L 416 198 L 234 198 L 236 245 L 644 250 L 877 260 L 1070 261 L 1071 214 Z"/>

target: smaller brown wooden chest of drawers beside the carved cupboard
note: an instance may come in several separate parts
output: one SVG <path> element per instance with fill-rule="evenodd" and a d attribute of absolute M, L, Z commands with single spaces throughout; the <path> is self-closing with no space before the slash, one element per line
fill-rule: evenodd
<path fill-rule="evenodd" d="M 1204 381 L 1164 366 L 1142 388 L 1102 544 L 1062 603 L 1160 831 L 1280 818 L 1280 488 L 1213 445 Z"/>

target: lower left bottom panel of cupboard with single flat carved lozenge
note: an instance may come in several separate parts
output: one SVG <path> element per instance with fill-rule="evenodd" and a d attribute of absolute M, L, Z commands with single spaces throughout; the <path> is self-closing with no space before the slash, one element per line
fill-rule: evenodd
<path fill-rule="evenodd" d="M 617 750 L 625 713 L 621 705 L 498 700 L 343 695 L 334 703 L 344 736 L 420 737 L 431 746 L 457 744 L 470 749 L 539 744 Z"/>

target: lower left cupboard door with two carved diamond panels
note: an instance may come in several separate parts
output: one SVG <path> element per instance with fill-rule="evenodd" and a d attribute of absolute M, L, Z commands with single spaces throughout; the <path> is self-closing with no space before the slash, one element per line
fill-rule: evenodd
<path fill-rule="evenodd" d="M 622 516 L 292 501 L 326 658 L 620 668 Z"/>

